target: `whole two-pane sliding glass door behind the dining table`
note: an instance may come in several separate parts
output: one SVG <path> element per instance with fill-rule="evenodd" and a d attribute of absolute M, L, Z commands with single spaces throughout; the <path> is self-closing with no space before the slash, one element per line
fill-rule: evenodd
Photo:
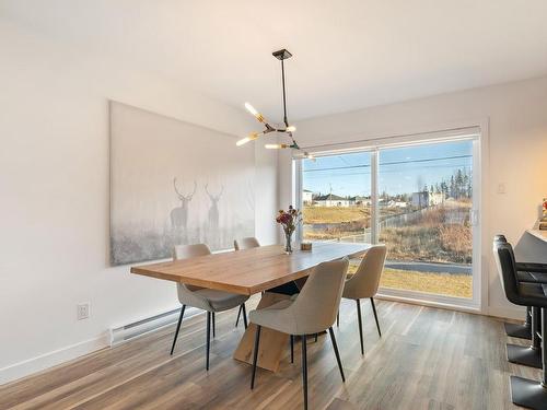
<path fill-rule="evenodd" d="M 476 142 L 300 160 L 302 238 L 383 243 L 383 292 L 470 304 Z"/>

